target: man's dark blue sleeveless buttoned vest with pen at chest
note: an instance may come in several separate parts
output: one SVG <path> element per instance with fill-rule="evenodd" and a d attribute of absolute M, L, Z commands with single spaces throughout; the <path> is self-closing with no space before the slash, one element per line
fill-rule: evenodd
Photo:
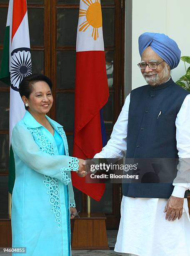
<path fill-rule="evenodd" d="M 188 94 L 172 78 L 158 87 L 145 85 L 132 90 L 127 159 L 178 159 L 175 119 Z M 176 165 L 175 168 L 171 166 L 168 165 L 167 172 L 175 179 Z M 128 197 L 169 198 L 173 188 L 171 182 L 123 183 L 122 193 Z"/>

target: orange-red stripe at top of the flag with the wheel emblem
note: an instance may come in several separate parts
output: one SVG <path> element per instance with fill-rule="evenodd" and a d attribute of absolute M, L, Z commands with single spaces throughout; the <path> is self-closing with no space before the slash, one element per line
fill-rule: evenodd
<path fill-rule="evenodd" d="M 12 22 L 12 38 L 15 36 L 20 23 L 22 22 L 27 11 L 26 0 L 13 0 L 13 22 Z"/>

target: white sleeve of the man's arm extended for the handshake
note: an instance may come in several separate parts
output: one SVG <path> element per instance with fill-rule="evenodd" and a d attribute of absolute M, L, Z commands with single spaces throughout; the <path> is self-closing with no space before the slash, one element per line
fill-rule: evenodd
<path fill-rule="evenodd" d="M 121 113 L 113 127 L 110 140 L 102 148 L 100 153 L 95 154 L 94 158 L 122 158 L 127 149 L 128 133 L 128 112 L 130 104 L 130 94 L 125 100 Z"/>

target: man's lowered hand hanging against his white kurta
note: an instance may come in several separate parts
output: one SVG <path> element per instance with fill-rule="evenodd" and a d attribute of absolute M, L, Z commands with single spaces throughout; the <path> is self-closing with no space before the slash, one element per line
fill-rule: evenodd
<path fill-rule="evenodd" d="M 164 212 L 166 212 L 166 220 L 178 220 L 181 218 L 183 213 L 183 201 L 184 198 L 170 196 L 165 206 Z"/>

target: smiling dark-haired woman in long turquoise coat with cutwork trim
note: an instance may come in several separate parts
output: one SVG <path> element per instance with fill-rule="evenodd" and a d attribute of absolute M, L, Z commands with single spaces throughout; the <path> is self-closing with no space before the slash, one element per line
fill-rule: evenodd
<path fill-rule="evenodd" d="M 13 247 L 28 256 L 69 256 L 70 212 L 77 214 L 70 171 L 83 177 L 83 160 L 68 156 L 62 125 L 46 114 L 53 103 L 52 82 L 32 74 L 20 83 L 26 113 L 12 135 L 15 185 L 12 195 Z"/>

